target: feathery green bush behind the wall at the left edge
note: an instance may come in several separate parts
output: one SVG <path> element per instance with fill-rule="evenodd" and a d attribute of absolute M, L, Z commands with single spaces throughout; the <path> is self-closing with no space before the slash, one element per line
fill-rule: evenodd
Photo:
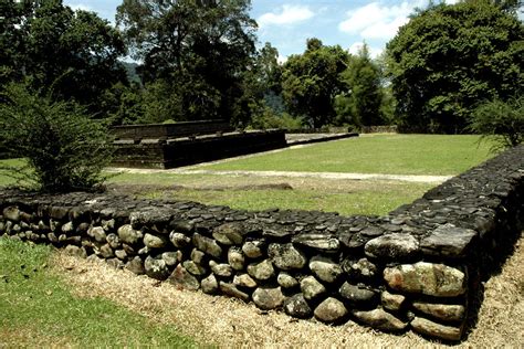
<path fill-rule="evenodd" d="M 20 186 L 48 192 L 93 189 L 113 149 L 107 126 L 73 102 L 54 102 L 11 84 L 0 97 L 0 148 L 23 167 L 3 167 Z"/>

